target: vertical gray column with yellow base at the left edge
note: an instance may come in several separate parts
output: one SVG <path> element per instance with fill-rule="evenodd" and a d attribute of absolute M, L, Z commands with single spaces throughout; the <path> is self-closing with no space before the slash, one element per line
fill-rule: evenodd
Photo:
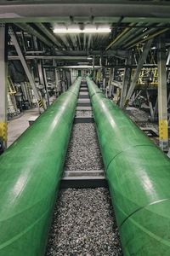
<path fill-rule="evenodd" d="M 7 146 L 7 27 L 0 24 L 0 140 Z M 1 143 L 1 142 L 0 142 Z"/>

